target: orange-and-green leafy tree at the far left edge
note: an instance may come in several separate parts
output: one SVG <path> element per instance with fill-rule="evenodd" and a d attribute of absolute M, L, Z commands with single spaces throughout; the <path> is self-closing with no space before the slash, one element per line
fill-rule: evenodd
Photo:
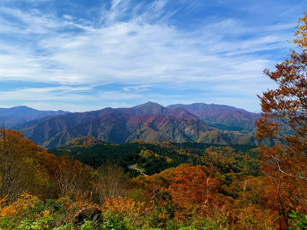
<path fill-rule="evenodd" d="M 41 147 L 16 130 L 0 126 L 0 198 L 14 201 L 22 192 L 40 195 L 47 186 L 44 168 L 35 158 Z"/>

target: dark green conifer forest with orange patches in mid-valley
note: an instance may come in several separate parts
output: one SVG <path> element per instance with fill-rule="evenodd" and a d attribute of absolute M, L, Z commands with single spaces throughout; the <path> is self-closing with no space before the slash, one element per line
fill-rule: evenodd
<path fill-rule="evenodd" d="M 191 163 L 213 167 L 222 174 L 235 172 L 258 176 L 259 159 L 255 148 L 251 145 L 136 141 L 117 145 L 97 144 L 88 148 L 65 145 L 47 151 L 56 155 L 68 154 L 95 169 L 109 161 L 124 168 L 137 164 L 142 172 L 153 175 L 182 163 Z"/>

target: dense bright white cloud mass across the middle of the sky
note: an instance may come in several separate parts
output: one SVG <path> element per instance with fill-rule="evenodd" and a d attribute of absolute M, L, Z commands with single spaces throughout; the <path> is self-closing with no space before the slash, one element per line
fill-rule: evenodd
<path fill-rule="evenodd" d="M 113 1 L 111 11 L 119 14 L 128 4 L 128 1 Z M 149 7 L 152 10 L 150 13 L 160 12 L 164 5 L 165 1 L 156 2 Z M 24 13 L 20 13 L 20 17 L 25 22 L 34 18 L 38 27 L 51 24 L 54 25 L 52 28 L 58 28 L 65 24 L 52 17 L 46 17 L 49 21 Z M 58 25 L 55 21 L 59 21 Z M 242 25 L 238 27 L 238 23 L 230 19 L 205 26 L 204 31 L 215 35 L 211 37 L 204 32 L 198 35 L 192 32 L 190 35 L 189 32 L 163 24 L 135 24 L 135 20 L 118 22 L 113 19 L 113 24 L 100 29 L 78 24 L 69 26 L 83 28 L 84 31 L 57 33 L 52 37 L 48 34 L 38 40 L 37 47 L 23 50 L 21 55 L 0 56 L 0 59 L 6 60 L 2 62 L 0 78 L 95 85 L 111 82 L 146 84 L 156 81 L 176 84 L 193 79 L 207 82 L 210 77 L 200 76 L 208 73 L 215 73 L 214 78 L 221 76 L 218 71 L 213 72 L 212 67 L 220 69 L 224 65 L 226 69 L 227 63 L 231 61 L 235 63 L 232 65 L 233 73 L 241 72 L 241 68 L 235 69 L 234 66 L 240 66 L 241 63 L 244 65 L 246 60 L 245 56 L 236 57 L 235 60 L 232 57 L 216 56 L 219 52 L 226 56 L 248 55 L 287 45 L 282 45 L 284 37 L 273 35 L 243 41 L 224 40 L 221 34 L 226 36 L 245 31 Z M 219 33 L 217 28 L 223 33 Z M 206 42 L 202 44 L 204 39 Z M 37 56 L 40 53 L 35 48 L 41 49 L 43 55 Z M 12 47 L 10 49 L 14 50 Z"/>

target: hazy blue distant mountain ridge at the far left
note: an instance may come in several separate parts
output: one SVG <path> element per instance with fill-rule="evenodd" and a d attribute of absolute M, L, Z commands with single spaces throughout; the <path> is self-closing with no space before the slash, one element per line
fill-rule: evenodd
<path fill-rule="evenodd" d="M 50 116 L 50 115 L 62 115 L 65 113 L 70 113 L 68 111 L 58 110 L 58 111 L 44 111 L 32 109 L 27 106 L 15 106 L 12 108 L 0 108 L 0 123 L 5 123 L 8 128 L 12 128 L 15 125 L 32 121 L 38 118 Z"/>

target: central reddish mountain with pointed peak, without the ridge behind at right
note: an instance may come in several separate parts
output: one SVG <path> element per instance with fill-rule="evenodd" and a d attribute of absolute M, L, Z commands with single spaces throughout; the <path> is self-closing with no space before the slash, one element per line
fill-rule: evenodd
<path fill-rule="evenodd" d="M 138 139 L 149 142 L 201 140 L 222 144 L 233 141 L 228 134 L 220 134 L 216 128 L 208 127 L 185 109 L 168 109 L 152 102 L 132 108 L 105 108 L 48 116 L 16 128 L 26 138 L 44 147 L 56 147 L 82 136 L 93 136 L 115 144 Z M 215 135 L 210 135 L 211 132 Z"/>

